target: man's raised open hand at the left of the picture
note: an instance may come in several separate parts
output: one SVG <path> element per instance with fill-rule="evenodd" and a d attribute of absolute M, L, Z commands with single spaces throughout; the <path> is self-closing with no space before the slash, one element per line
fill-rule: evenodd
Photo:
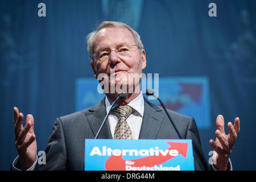
<path fill-rule="evenodd" d="M 26 117 L 26 125 L 23 127 L 24 115 L 14 107 L 14 131 L 15 146 L 19 154 L 19 169 L 26 170 L 36 161 L 37 145 L 34 133 L 34 118 L 31 114 Z"/>

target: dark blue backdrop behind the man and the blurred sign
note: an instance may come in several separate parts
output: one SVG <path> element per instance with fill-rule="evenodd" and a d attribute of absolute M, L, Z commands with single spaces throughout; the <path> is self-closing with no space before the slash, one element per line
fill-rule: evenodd
<path fill-rule="evenodd" d="M 38 16 L 40 2 L 46 17 Z M 211 2 L 217 17 L 208 16 Z M 199 128 L 207 160 L 217 115 L 226 123 L 238 116 L 233 168 L 255 170 L 255 7 L 254 0 L 1 0 L 0 169 L 17 155 L 13 107 L 34 115 L 38 151 L 44 150 L 55 118 L 76 110 L 77 78 L 93 77 L 85 36 L 102 20 L 115 20 L 141 35 L 144 73 L 207 78 L 210 127 Z"/>

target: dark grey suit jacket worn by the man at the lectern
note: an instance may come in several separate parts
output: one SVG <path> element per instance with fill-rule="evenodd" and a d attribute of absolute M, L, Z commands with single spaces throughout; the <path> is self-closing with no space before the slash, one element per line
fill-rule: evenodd
<path fill-rule="evenodd" d="M 166 113 L 144 98 L 140 139 L 179 139 Z M 168 110 L 181 137 L 192 139 L 196 170 L 207 170 L 195 119 Z M 94 138 L 106 115 L 105 100 L 87 109 L 56 119 L 46 147 L 46 164 L 37 170 L 83 170 L 85 138 Z M 98 138 L 112 139 L 106 122 Z"/>

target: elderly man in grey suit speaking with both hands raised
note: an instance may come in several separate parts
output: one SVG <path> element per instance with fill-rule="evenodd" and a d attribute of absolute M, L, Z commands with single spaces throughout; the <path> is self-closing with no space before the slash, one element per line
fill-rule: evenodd
<path fill-rule="evenodd" d="M 126 96 L 118 100 L 117 106 L 110 111 L 108 122 L 98 138 L 179 138 L 164 110 L 143 97 L 141 77 L 134 79 L 134 75 L 141 75 L 147 63 L 138 33 L 125 23 L 102 22 L 87 38 L 90 65 L 95 78 L 103 75 L 104 84 L 101 82 L 101 85 L 106 97 L 95 106 L 56 119 L 46 147 L 46 164 L 42 165 L 37 163 L 34 118 L 28 114 L 23 127 L 24 115 L 14 107 L 15 145 L 19 155 L 13 162 L 13 169 L 83 170 L 84 139 L 95 137 L 106 113 L 110 111 L 110 105 L 118 96 L 117 88 L 125 92 Z M 125 118 L 120 119 L 121 113 L 125 113 Z M 201 150 L 195 119 L 172 110 L 168 110 L 168 113 L 181 137 L 192 139 L 196 170 L 232 170 L 229 156 L 240 131 L 239 118 L 234 119 L 234 125 L 228 123 L 227 135 L 224 131 L 224 118 L 218 115 L 216 140 L 209 140 L 214 150 L 213 164 L 208 166 Z M 125 131 L 121 131 L 122 126 L 126 127 Z"/>

